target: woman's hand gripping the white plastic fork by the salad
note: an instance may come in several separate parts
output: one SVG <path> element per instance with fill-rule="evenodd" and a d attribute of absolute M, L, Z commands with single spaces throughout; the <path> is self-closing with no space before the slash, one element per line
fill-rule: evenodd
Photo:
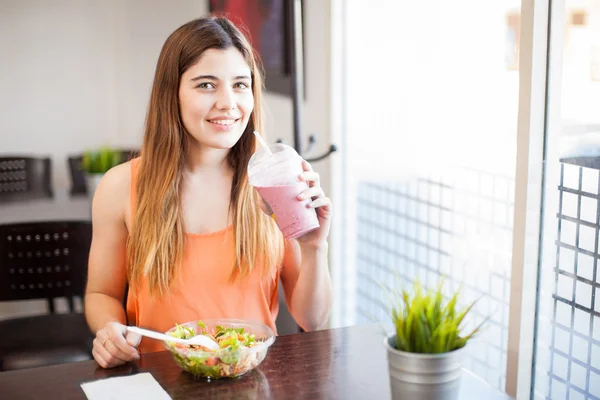
<path fill-rule="evenodd" d="M 140 358 L 137 346 L 141 340 L 141 335 L 127 331 L 125 325 L 109 322 L 96 332 L 92 355 L 102 368 L 116 367 Z"/>

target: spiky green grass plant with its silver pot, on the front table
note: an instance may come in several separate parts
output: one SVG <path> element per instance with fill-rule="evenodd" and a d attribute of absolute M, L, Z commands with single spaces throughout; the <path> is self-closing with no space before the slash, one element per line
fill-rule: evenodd
<path fill-rule="evenodd" d="M 458 310 L 459 292 L 446 300 L 441 289 L 442 284 L 425 292 L 417 281 L 412 294 L 403 290 L 391 296 L 395 332 L 384 346 L 394 399 L 458 397 L 464 348 L 481 325 L 463 334 L 463 321 L 475 302 Z"/>

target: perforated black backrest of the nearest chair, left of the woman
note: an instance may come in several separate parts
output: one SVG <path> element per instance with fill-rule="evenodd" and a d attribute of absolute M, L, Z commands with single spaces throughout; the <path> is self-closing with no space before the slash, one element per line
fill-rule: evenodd
<path fill-rule="evenodd" d="M 66 297 L 85 292 L 92 241 L 89 221 L 0 225 L 0 301 Z"/>

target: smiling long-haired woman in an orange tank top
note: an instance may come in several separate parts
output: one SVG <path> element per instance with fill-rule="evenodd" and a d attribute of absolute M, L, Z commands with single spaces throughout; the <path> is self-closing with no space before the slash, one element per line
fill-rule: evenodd
<path fill-rule="evenodd" d="M 127 323 L 164 332 L 240 318 L 275 331 L 279 278 L 296 322 L 325 326 L 331 201 L 304 161 L 309 188 L 298 201 L 311 198 L 321 226 L 284 240 L 248 184 L 254 130 L 263 131 L 262 78 L 246 38 L 215 17 L 173 32 L 159 56 L 141 156 L 110 170 L 94 196 L 85 313 L 102 367 L 163 349 L 128 333 Z"/>

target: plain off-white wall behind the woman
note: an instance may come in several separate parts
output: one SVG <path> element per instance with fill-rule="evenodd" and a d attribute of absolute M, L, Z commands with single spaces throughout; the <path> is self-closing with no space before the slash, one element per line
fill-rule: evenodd
<path fill-rule="evenodd" d="M 51 156 L 55 187 L 67 188 L 67 154 L 138 147 L 162 44 L 207 11 L 206 0 L 0 0 L 0 153 Z M 305 135 L 319 134 L 320 154 L 330 140 L 329 1 L 306 0 L 305 13 Z M 269 139 L 291 144 L 291 100 L 266 103 Z M 329 162 L 314 167 L 328 193 Z"/>

